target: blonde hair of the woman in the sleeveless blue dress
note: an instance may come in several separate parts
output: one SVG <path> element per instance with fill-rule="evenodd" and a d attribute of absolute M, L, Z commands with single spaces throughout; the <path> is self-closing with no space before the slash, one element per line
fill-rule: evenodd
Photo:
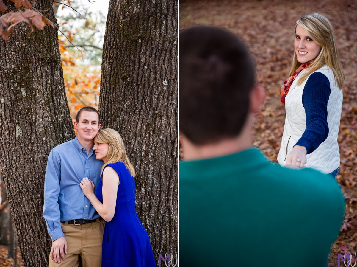
<path fill-rule="evenodd" d="M 116 130 L 109 128 L 100 129 L 94 140 L 97 143 L 109 144 L 107 161 L 102 167 L 101 174 L 103 173 L 105 166 L 109 163 L 122 161 L 125 164 L 125 167 L 129 170 L 131 176 L 135 177 L 134 166 L 130 163 L 130 160 L 128 159 L 125 152 L 123 139 Z"/>

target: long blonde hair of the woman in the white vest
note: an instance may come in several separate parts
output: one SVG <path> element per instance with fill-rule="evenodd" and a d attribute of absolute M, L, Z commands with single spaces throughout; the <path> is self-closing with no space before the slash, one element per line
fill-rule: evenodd
<path fill-rule="evenodd" d="M 322 66 L 327 65 L 330 69 L 332 69 L 333 74 L 335 74 L 335 80 L 338 87 L 342 89 L 345 74 L 343 73 L 340 60 L 338 59 L 335 34 L 333 33 L 330 21 L 325 18 L 325 16 L 318 13 L 306 14 L 301 19 L 296 21 L 294 37 L 297 25 L 300 25 L 306 31 L 308 36 L 311 37 L 316 44 L 321 46 L 320 54 L 310 65 L 306 73 L 300 77 L 297 84 L 302 84 L 302 82 L 305 81 L 311 73 L 322 68 Z M 294 51 L 294 57 L 289 75 L 292 76 L 300 65 L 301 63 L 297 60 L 296 51 Z"/>

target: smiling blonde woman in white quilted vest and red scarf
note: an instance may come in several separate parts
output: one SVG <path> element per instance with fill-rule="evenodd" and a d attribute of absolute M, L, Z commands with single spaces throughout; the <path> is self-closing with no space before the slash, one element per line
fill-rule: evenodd
<path fill-rule="evenodd" d="M 283 166 L 315 168 L 336 178 L 345 76 L 330 21 L 317 13 L 303 16 L 296 22 L 294 47 L 291 77 L 281 88 L 286 117 L 277 159 Z"/>

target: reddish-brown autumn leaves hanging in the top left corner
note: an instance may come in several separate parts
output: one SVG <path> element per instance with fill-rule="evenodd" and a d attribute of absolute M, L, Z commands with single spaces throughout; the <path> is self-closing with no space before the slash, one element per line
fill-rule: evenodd
<path fill-rule="evenodd" d="M 21 8 L 21 5 L 24 6 L 24 11 L 15 10 L 6 13 L 5 15 L 2 15 L 0 17 L 0 36 L 5 40 L 9 40 L 9 34 L 12 34 L 14 32 L 13 27 L 22 21 L 30 26 L 31 29 L 30 33 L 34 31 L 32 24 L 41 30 L 44 28 L 46 24 L 55 27 L 49 19 L 45 18 L 40 13 L 34 10 L 30 10 L 31 4 L 28 0 L 11 0 L 11 1 L 15 3 L 15 7 L 17 9 Z M 7 6 L 4 4 L 2 0 L 0 0 L 0 11 L 5 12 L 6 10 L 7 10 Z M 32 24 L 30 21 L 32 22 Z M 11 25 L 8 26 L 9 24 Z M 5 28 L 7 29 L 5 30 Z"/>

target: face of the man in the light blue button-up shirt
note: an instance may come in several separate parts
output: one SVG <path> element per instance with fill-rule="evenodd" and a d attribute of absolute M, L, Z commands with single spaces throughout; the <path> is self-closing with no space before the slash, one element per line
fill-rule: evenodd
<path fill-rule="evenodd" d="M 98 120 L 99 118 L 96 112 L 82 111 L 79 122 L 74 122 L 78 138 L 84 141 L 93 140 L 101 126 L 98 124 Z"/>

